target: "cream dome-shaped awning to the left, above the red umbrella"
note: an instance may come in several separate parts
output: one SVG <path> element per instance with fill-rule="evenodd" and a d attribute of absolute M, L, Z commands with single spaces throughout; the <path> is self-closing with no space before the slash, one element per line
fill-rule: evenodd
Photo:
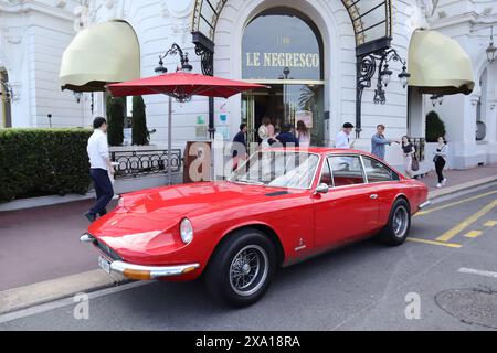
<path fill-rule="evenodd" d="M 105 90 L 105 85 L 140 77 L 140 50 L 126 22 L 105 22 L 80 32 L 62 57 L 62 89 Z"/>

